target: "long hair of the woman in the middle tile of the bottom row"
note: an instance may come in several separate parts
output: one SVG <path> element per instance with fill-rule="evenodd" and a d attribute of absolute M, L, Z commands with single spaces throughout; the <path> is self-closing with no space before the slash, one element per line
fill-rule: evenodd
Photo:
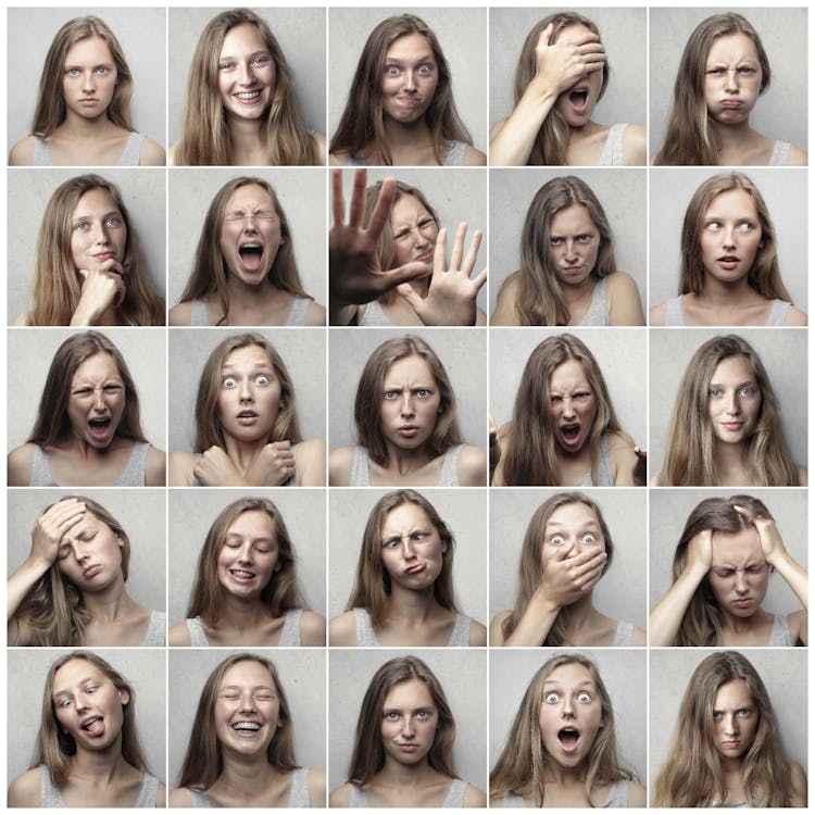
<path fill-rule="evenodd" d="M 430 668 L 418 656 L 399 656 L 386 662 L 371 679 L 356 720 L 356 735 L 348 768 L 348 781 L 364 787 L 385 766 L 385 748 L 381 739 L 385 698 L 396 685 L 419 679 L 425 684 L 439 714 L 436 739 L 427 763 L 437 773 L 457 778 L 453 769 L 453 742 L 455 720 L 441 684 Z"/>

